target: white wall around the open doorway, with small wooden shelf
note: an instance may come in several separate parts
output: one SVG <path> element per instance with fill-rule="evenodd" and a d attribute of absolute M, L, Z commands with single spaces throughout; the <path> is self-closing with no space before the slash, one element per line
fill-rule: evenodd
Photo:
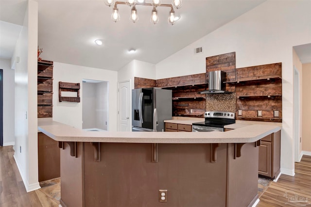
<path fill-rule="evenodd" d="M 117 131 L 117 71 L 57 62 L 54 62 L 53 65 L 53 120 L 82 129 L 83 99 L 81 99 L 80 103 L 66 101 L 59 102 L 59 81 L 80 83 L 80 86 L 82 85 L 83 79 L 108 81 L 108 130 Z M 80 97 L 83 97 L 83 88 L 80 89 Z"/>

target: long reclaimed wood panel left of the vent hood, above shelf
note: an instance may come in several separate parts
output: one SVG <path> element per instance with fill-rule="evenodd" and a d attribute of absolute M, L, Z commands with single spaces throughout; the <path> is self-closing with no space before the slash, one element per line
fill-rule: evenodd
<path fill-rule="evenodd" d="M 206 73 L 200 73 L 188 76 L 173 77 L 168 79 L 158 79 L 156 80 L 156 87 L 167 88 L 175 86 L 197 85 L 204 83 L 207 83 Z"/>

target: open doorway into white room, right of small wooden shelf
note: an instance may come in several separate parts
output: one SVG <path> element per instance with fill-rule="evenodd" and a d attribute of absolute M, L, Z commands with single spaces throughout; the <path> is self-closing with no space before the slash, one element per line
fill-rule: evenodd
<path fill-rule="evenodd" d="M 108 131 L 108 82 L 83 79 L 82 128 Z"/>

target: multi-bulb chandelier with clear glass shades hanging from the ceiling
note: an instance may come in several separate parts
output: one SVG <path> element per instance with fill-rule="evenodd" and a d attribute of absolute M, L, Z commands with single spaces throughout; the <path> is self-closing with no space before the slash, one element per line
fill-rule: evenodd
<path fill-rule="evenodd" d="M 153 7 L 150 21 L 154 24 L 159 22 L 159 16 L 157 15 L 156 7 L 160 7 L 160 6 L 171 7 L 169 18 L 168 18 L 168 22 L 171 25 L 175 24 L 175 21 L 179 19 L 179 17 L 175 16 L 174 8 L 179 9 L 183 5 L 181 0 L 173 0 L 172 4 L 161 4 L 161 0 L 151 0 L 151 3 L 146 3 L 145 0 L 125 0 L 125 1 L 104 0 L 104 3 L 109 7 L 110 6 L 113 7 L 111 19 L 114 22 L 117 22 L 120 20 L 118 4 L 125 4 L 125 5 L 132 7 L 130 20 L 134 23 L 137 22 L 139 19 L 137 9 L 136 9 L 137 5 L 139 5 L 139 6 L 152 6 Z"/>

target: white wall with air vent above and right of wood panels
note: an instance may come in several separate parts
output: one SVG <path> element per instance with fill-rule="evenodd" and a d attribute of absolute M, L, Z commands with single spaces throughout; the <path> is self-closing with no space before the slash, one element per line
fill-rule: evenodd
<path fill-rule="evenodd" d="M 310 0 L 265 1 L 156 64 L 156 79 L 204 73 L 206 57 L 233 51 L 237 68 L 281 62 L 281 172 L 294 175 L 293 46 L 311 42 L 310 8 Z M 204 52 L 194 55 L 198 47 Z"/>

